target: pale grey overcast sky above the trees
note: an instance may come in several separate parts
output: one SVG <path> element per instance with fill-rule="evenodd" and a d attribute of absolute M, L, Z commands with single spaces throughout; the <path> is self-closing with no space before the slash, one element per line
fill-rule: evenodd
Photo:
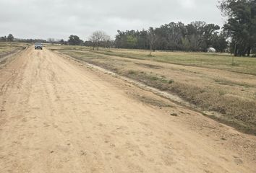
<path fill-rule="evenodd" d="M 88 39 L 95 30 L 142 30 L 169 22 L 223 24 L 217 0 L 0 0 L 0 36 L 69 35 Z"/>

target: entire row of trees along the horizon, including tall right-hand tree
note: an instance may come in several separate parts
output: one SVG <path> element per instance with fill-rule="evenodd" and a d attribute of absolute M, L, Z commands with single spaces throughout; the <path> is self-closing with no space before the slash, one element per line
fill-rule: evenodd
<path fill-rule="evenodd" d="M 218 52 L 228 51 L 234 56 L 250 56 L 256 53 L 256 0 L 220 0 L 219 9 L 226 22 L 221 28 L 202 21 L 185 25 L 170 22 L 148 30 L 117 30 L 114 40 L 103 31 L 95 31 L 88 40 L 70 35 L 66 40 L 15 39 L 27 43 L 51 43 L 61 45 L 85 45 L 98 50 L 105 48 L 134 48 L 148 50 L 207 51 L 213 47 Z M 0 37 L 0 41 L 13 41 L 12 34 Z"/>

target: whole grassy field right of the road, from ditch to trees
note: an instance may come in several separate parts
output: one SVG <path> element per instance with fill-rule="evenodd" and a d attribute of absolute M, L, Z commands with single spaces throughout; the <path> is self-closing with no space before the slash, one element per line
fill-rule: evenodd
<path fill-rule="evenodd" d="M 182 53 L 146 50 L 101 49 L 54 45 L 81 61 L 154 86 L 213 117 L 256 134 L 256 58 L 234 58 L 219 53 Z"/>

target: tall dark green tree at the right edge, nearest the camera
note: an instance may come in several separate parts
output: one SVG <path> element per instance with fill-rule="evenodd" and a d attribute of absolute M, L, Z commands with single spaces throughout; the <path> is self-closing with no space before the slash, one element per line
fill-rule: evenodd
<path fill-rule="evenodd" d="M 219 8 L 227 17 L 223 30 L 231 37 L 234 56 L 249 56 L 256 43 L 256 1 L 223 0 Z"/>

